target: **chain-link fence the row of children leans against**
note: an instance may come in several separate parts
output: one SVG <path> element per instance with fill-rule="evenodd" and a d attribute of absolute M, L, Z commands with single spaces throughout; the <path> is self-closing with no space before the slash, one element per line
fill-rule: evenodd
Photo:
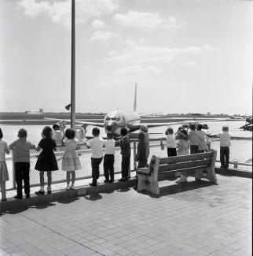
<path fill-rule="evenodd" d="M 158 155 L 161 158 L 167 157 L 167 150 L 164 148 L 162 144 L 165 142 L 160 139 L 151 139 L 150 140 L 150 154 L 148 161 L 152 157 L 153 154 Z M 136 168 L 136 163 L 134 161 L 134 157 L 137 150 L 137 140 L 132 140 L 131 148 L 131 160 L 130 160 L 130 169 L 134 170 Z M 217 150 L 217 161 L 219 161 L 219 140 L 213 139 L 211 142 L 211 148 Z M 91 161 L 90 161 L 90 149 L 87 149 L 84 144 L 79 144 L 77 153 L 79 155 L 79 160 L 81 162 L 82 169 L 75 172 L 76 179 L 86 179 L 91 177 Z M 35 164 L 38 158 L 39 152 L 36 150 L 30 151 L 30 163 L 31 163 L 31 172 L 30 172 L 30 184 L 31 187 L 37 186 L 39 184 L 39 173 L 35 170 Z M 57 146 L 57 151 L 55 152 L 58 168 L 59 170 L 52 172 L 52 181 L 53 183 L 61 183 L 66 179 L 66 172 L 61 170 L 61 158 L 64 154 L 64 146 Z M 249 169 L 252 168 L 252 139 L 246 138 L 232 138 L 231 147 L 230 147 L 230 158 L 231 162 L 230 167 L 233 167 L 233 162 L 237 162 L 238 165 L 241 164 L 240 169 Z M 6 163 L 9 170 L 10 180 L 6 183 L 7 189 L 13 189 L 16 187 L 15 177 L 13 176 L 13 158 L 6 158 Z M 115 152 L 115 173 L 121 172 L 121 154 L 120 148 L 116 147 Z M 103 161 L 100 165 L 100 173 L 103 175 Z"/>

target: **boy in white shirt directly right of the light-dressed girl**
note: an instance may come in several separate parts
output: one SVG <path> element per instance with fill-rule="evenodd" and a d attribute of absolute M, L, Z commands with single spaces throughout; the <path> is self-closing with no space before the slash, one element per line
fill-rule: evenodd
<path fill-rule="evenodd" d="M 103 139 L 99 137 L 99 128 L 93 128 L 92 135 L 94 135 L 94 138 L 87 142 L 87 147 L 91 148 L 92 183 L 90 183 L 90 186 L 97 187 L 97 179 L 99 178 L 99 165 L 103 159 L 104 142 Z"/>

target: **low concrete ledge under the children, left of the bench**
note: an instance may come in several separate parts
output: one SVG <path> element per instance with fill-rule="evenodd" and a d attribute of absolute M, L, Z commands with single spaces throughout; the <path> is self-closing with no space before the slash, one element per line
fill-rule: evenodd
<path fill-rule="evenodd" d="M 49 202 L 57 202 L 63 199 L 75 199 L 78 196 L 92 195 L 102 192 L 114 191 L 117 189 L 125 189 L 127 187 L 134 187 L 136 185 L 136 179 L 132 178 L 125 182 L 114 182 L 113 184 L 97 184 L 97 187 L 82 186 L 75 187 L 75 190 L 58 190 L 52 191 L 51 195 L 31 195 L 31 198 L 15 199 L 10 198 L 6 202 L 0 202 L 0 213 L 9 210 L 19 210 L 28 208 L 30 206 L 36 206 L 39 204 L 46 204 Z M 46 191 L 45 191 L 46 192 Z"/>

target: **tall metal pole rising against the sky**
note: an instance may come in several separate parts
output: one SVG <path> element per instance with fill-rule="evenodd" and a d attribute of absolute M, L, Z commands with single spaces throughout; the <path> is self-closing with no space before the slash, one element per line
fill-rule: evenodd
<path fill-rule="evenodd" d="M 75 0 L 72 0 L 72 98 L 71 128 L 75 129 Z"/>

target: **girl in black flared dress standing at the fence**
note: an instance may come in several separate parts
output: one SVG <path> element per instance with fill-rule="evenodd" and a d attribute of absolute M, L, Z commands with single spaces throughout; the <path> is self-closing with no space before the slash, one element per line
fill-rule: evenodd
<path fill-rule="evenodd" d="M 53 151 L 57 150 L 57 144 L 52 139 L 53 130 L 49 126 L 45 126 L 42 130 L 42 139 L 38 143 L 36 150 L 42 149 L 42 152 L 38 155 L 38 160 L 35 165 L 35 169 L 39 171 L 40 190 L 36 191 L 36 195 L 44 195 L 44 173 L 47 173 L 47 194 L 51 194 L 52 183 L 52 171 L 58 169 L 57 159 Z"/>

